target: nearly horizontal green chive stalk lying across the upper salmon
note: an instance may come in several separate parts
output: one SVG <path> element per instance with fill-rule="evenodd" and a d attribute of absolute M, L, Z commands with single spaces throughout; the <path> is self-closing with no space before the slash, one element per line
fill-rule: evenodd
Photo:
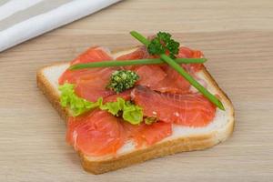
<path fill-rule="evenodd" d="M 177 58 L 175 59 L 177 64 L 189 64 L 189 63 L 205 63 L 207 61 L 206 58 Z M 109 66 L 135 66 L 135 65 L 157 65 L 164 64 L 160 58 L 157 59 L 135 59 L 135 60 L 123 60 L 123 61 L 102 61 L 102 62 L 93 62 L 93 63 L 85 63 L 85 64 L 76 64 L 74 66 L 70 66 L 69 69 L 83 69 L 90 67 L 109 67 Z"/>

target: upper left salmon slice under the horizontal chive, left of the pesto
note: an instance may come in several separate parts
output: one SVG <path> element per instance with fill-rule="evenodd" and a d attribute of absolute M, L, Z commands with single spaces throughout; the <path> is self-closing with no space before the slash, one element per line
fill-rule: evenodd
<path fill-rule="evenodd" d="M 112 56 L 102 47 L 91 47 L 85 53 L 76 57 L 71 65 L 88 62 L 99 62 L 112 60 Z M 98 97 L 110 96 L 114 92 L 106 90 L 111 74 L 116 71 L 114 67 L 92 68 L 92 69 L 67 69 L 59 78 L 59 85 L 64 83 L 74 84 L 77 96 L 81 96 L 88 101 L 95 102 Z"/>

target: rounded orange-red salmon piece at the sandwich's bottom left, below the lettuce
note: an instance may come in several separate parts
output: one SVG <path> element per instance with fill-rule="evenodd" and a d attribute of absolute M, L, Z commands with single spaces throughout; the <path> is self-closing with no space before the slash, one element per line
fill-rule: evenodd
<path fill-rule="evenodd" d="M 116 154 L 126 140 L 121 119 L 106 111 L 94 110 L 85 116 L 69 117 L 67 142 L 85 155 Z"/>

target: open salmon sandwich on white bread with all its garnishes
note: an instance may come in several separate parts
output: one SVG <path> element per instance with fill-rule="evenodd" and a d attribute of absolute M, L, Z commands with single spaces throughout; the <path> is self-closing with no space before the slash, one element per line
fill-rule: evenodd
<path fill-rule="evenodd" d="M 45 66 L 37 85 L 66 121 L 66 141 L 94 174 L 213 147 L 231 135 L 234 108 L 201 51 L 165 32 L 122 51 L 94 46 Z"/>

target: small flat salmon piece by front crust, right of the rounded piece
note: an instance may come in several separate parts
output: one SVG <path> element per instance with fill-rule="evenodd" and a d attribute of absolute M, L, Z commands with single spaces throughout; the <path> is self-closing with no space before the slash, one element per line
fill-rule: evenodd
<path fill-rule="evenodd" d="M 141 124 L 139 126 L 124 122 L 124 126 L 127 136 L 133 138 L 136 142 L 136 147 L 142 147 L 143 145 L 151 146 L 172 134 L 171 123 L 162 121 L 158 121 L 152 125 Z"/>

